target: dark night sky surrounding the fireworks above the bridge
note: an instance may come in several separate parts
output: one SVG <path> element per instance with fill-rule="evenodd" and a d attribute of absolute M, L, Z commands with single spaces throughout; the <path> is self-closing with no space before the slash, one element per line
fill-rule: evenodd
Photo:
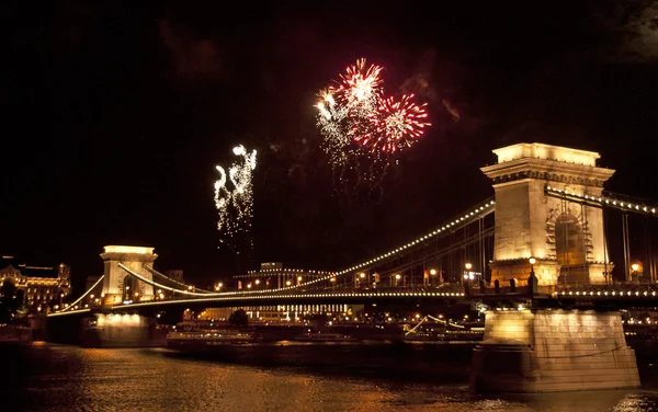
<path fill-rule="evenodd" d="M 491 196 L 479 167 L 521 141 L 599 151 L 609 190 L 658 199 L 658 2 L 152 3 L 2 5 L 2 254 L 78 278 L 105 244 L 198 283 L 341 268 Z M 433 126 L 381 202 L 345 206 L 313 105 L 360 57 Z M 239 258 L 217 249 L 212 187 L 236 144 L 259 151 Z"/>

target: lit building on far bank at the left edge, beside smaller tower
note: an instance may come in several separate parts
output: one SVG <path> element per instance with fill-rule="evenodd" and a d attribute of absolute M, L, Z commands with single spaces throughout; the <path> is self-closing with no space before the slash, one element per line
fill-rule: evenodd
<path fill-rule="evenodd" d="M 42 306 L 61 306 L 63 300 L 71 291 L 70 267 L 64 263 L 59 266 L 29 266 L 12 264 L 12 256 L 2 256 L 9 263 L 0 270 L 0 283 L 9 279 L 18 290 L 23 291 L 23 302 L 30 308 Z"/>

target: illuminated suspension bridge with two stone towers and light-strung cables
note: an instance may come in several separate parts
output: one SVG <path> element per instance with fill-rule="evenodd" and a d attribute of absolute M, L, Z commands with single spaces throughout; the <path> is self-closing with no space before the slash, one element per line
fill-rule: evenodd
<path fill-rule="evenodd" d="M 350 267 L 294 285 L 202 290 L 156 271 L 154 248 L 110 245 L 101 254 L 103 277 L 49 318 L 191 307 L 472 304 L 486 311 L 485 342 L 474 357 L 476 387 L 637 386 L 619 309 L 658 306 L 650 247 L 656 206 L 604 191 L 615 171 L 598 167 L 595 152 L 543 144 L 494 152 L 498 162 L 481 168 L 494 197 Z M 621 236 L 611 233 L 615 219 Z M 637 228 L 642 248 L 631 241 Z M 521 378 L 499 379 L 492 359 L 501 354 L 520 363 Z M 555 368 L 548 359 L 560 356 L 568 365 Z M 578 371 L 582 365 L 594 373 Z M 597 380 L 601 375 L 610 379 Z"/>

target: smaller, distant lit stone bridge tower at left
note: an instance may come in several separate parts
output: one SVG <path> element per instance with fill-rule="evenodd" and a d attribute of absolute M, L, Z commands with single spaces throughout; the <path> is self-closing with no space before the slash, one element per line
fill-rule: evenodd
<path fill-rule="evenodd" d="M 152 300 L 154 287 L 128 275 L 118 266 L 120 263 L 136 272 L 140 276 L 151 281 L 152 275 L 144 268 L 148 263 L 152 266 L 158 258 L 154 253 L 155 248 L 107 245 L 101 258 L 104 262 L 103 295 L 105 305 L 116 305 L 126 299 Z M 139 294 L 135 297 L 135 294 Z"/>

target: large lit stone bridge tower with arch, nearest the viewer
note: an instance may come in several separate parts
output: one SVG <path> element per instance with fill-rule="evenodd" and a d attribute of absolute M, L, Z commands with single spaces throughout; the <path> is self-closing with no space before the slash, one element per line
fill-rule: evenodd
<path fill-rule="evenodd" d="M 597 167 L 597 152 L 537 142 L 494 153 L 498 162 L 480 169 L 496 192 L 491 282 L 525 285 L 535 258 L 540 286 L 605 284 L 612 265 L 602 209 L 547 196 L 545 188 L 599 197 L 614 170 Z"/>

